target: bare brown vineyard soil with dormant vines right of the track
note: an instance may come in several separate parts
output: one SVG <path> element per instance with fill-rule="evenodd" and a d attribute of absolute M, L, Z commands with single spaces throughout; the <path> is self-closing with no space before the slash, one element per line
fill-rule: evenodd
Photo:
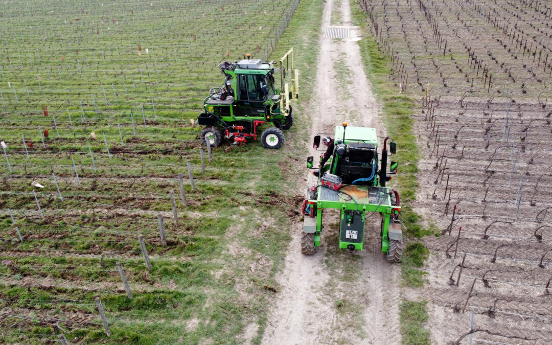
<path fill-rule="evenodd" d="M 436 344 L 468 343 L 471 325 L 474 343 L 549 344 L 550 2 L 362 7 L 420 105 L 413 208 L 435 236 L 426 286 L 405 297 L 428 301 Z"/>

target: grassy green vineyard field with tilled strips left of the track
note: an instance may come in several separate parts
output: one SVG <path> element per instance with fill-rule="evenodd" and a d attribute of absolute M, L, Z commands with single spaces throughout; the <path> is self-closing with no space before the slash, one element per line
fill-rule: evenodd
<path fill-rule="evenodd" d="M 248 52 L 266 56 L 267 47 L 275 60 L 293 45 L 301 73 L 312 71 L 316 50 L 301 48 L 316 38 L 321 1 L 301 2 L 282 33 L 279 25 L 293 7 L 292 1 L 0 7 L 0 140 L 10 163 L 0 166 L 3 339 L 44 343 L 63 334 L 71 343 L 260 341 L 298 204 L 286 174 L 307 126 L 301 104 L 281 150 L 259 142 L 225 145 L 208 162 L 203 147 L 205 173 L 200 129 L 190 119 L 209 88 L 220 86 L 222 60 Z M 312 87 L 302 80 L 302 91 Z M 49 130 L 44 144 L 39 125 Z M 33 144 L 28 156 L 22 136 Z M 169 190 L 175 191 L 178 225 Z"/>

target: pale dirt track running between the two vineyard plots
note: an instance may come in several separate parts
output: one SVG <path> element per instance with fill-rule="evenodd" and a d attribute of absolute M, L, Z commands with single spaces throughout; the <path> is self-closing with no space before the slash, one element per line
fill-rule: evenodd
<path fill-rule="evenodd" d="M 336 18 L 339 24 L 330 25 Z M 326 37 L 328 26 L 347 30 L 348 37 Z M 313 106 L 305 107 L 312 109 L 310 137 L 333 133 L 342 121 L 374 127 L 380 136 L 385 134 L 378 116 L 380 106 L 360 61 L 358 35 L 351 24 L 349 3 L 328 0 L 319 43 L 317 94 Z M 316 158 L 321 153 L 310 150 Z M 314 183 L 310 176 L 307 184 Z M 305 194 L 305 188 L 298 193 Z M 337 213 L 328 212 L 323 219 L 321 247 L 313 256 L 300 253 L 302 221 L 293 224 L 285 269 L 277 277 L 283 288 L 269 312 L 263 344 L 331 343 L 338 339 L 346 343 L 400 343 L 400 267 L 388 264 L 380 252 L 379 221 L 377 215 L 367 220 L 364 251 L 350 254 L 338 250 Z"/>

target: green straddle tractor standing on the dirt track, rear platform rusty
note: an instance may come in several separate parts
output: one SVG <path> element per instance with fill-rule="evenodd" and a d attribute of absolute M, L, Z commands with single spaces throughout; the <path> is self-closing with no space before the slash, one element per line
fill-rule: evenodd
<path fill-rule="evenodd" d="M 320 149 L 320 137 L 314 138 L 314 147 Z M 391 174 L 397 172 L 397 162 L 391 162 L 387 172 L 388 155 L 394 155 L 396 144 L 387 144 L 386 137 L 378 155 L 378 137 L 374 128 L 337 126 L 334 146 L 328 164 L 313 167 L 314 157 L 307 158 L 307 168 L 317 169 L 313 174 L 317 183 L 307 189 L 302 204 L 304 224 L 301 253 L 314 254 L 320 246 L 322 214 L 325 209 L 341 211 L 339 248 L 362 251 L 364 221 L 375 213 L 381 214 L 381 251 L 389 262 L 400 262 L 403 241 L 400 216 L 400 197 L 395 189 L 385 187 Z"/>

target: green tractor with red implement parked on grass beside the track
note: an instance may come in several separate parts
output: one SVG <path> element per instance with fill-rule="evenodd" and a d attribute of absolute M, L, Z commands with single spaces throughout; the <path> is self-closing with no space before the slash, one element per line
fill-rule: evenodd
<path fill-rule="evenodd" d="M 293 65 L 293 48 L 279 60 L 263 63 L 260 59 L 240 62 L 222 62 L 224 74 L 222 87 L 212 88 L 203 101 L 204 113 L 198 116 L 198 124 L 204 144 L 219 146 L 222 138 L 232 140 L 232 145 L 243 144 L 247 139 L 256 140 L 258 127 L 268 125 L 261 134 L 266 148 L 280 148 L 284 143 L 282 130 L 293 125 L 290 102 L 299 98 L 299 72 Z M 290 66 L 291 65 L 291 66 Z M 289 68 L 291 67 L 291 68 Z M 274 75 L 280 72 L 280 88 L 274 87 Z M 288 71 L 288 73 L 286 73 Z M 286 75 L 291 84 L 286 83 Z"/>

